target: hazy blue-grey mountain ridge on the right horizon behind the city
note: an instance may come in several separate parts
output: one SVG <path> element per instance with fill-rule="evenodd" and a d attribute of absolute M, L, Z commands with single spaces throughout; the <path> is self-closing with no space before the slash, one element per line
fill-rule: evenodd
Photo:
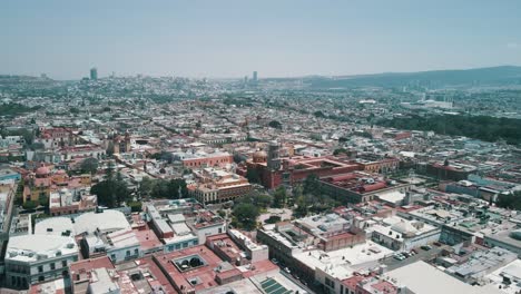
<path fill-rule="evenodd" d="M 420 72 L 385 72 L 338 77 L 309 76 L 298 78 L 312 88 L 352 87 L 455 87 L 521 85 L 521 67 L 501 66 L 475 69 L 432 70 Z M 286 79 L 287 80 L 287 79 Z"/>

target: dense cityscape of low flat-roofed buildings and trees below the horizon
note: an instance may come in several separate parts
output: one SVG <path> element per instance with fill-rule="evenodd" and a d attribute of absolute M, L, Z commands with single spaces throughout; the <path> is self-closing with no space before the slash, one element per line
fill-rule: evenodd
<path fill-rule="evenodd" d="M 0 76 L 4 293 L 520 293 L 521 75 L 87 72 Z"/>

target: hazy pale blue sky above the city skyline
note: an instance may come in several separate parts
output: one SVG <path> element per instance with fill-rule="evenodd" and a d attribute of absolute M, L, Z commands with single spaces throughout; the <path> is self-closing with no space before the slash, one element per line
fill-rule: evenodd
<path fill-rule="evenodd" d="M 283 77 L 521 65 L 519 0 L 2 0 L 0 74 Z"/>

